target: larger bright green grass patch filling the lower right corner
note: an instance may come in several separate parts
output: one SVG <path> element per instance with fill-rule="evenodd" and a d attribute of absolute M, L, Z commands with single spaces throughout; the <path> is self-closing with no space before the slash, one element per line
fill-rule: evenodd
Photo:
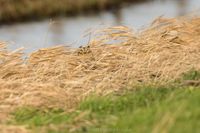
<path fill-rule="evenodd" d="M 198 88 L 147 87 L 115 99 L 92 98 L 80 108 L 97 115 L 99 125 L 89 128 L 90 133 L 194 133 L 200 130 L 199 101 Z"/>

